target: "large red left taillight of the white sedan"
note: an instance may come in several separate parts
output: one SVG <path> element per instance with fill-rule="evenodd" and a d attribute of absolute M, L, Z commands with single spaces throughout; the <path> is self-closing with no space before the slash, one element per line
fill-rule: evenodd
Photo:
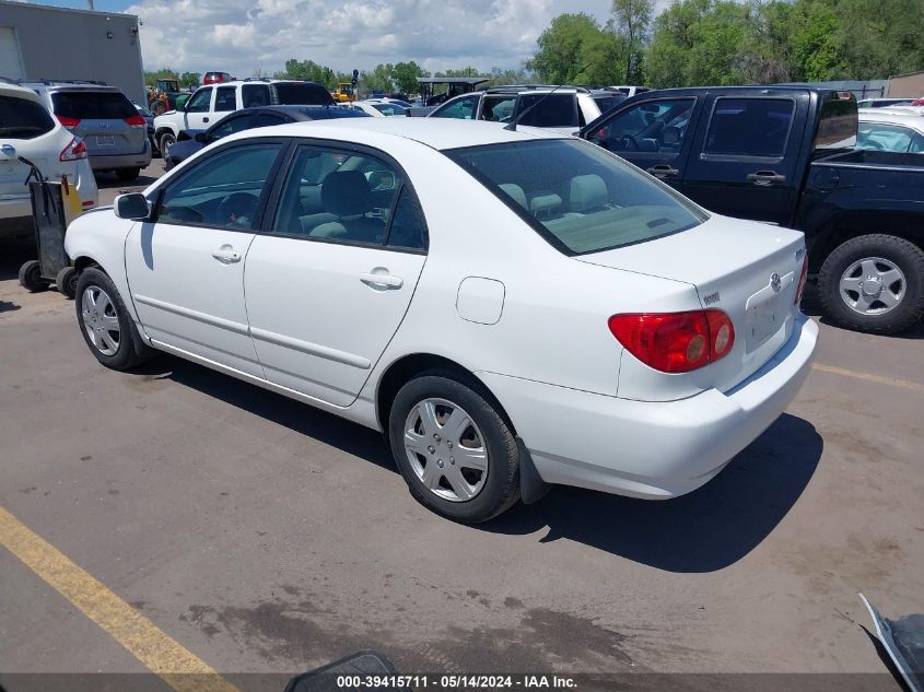
<path fill-rule="evenodd" d="M 735 344 L 735 326 L 722 310 L 613 315 L 609 330 L 645 365 L 664 373 L 687 373 L 725 357 Z"/>

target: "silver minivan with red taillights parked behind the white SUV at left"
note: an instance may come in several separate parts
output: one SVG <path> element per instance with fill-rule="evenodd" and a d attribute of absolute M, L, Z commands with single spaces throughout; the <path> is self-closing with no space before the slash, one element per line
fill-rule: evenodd
<path fill-rule="evenodd" d="M 86 146 L 94 172 L 112 171 L 133 180 L 151 163 L 144 117 L 115 86 L 93 82 L 20 82 L 32 89 L 56 118 Z"/>

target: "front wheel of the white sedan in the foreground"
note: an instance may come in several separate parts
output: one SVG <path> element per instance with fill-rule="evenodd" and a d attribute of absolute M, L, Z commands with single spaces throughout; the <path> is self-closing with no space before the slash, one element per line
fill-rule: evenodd
<path fill-rule="evenodd" d="M 74 300 L 83 340 L 100 363 L 126 371 L 148 360 L 152 351 L 140 343 L 134 321 L 105 272 L 95 267 L 84 269 Z"/>

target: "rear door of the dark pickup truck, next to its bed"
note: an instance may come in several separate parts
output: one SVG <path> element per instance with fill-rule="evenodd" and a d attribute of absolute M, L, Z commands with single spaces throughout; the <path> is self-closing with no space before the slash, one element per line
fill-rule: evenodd
<path fill-rule="evenodd" d="M 710 211 L 787 224 L 808 101 L 772 91 L 710 95 L 683 193 Z"/>

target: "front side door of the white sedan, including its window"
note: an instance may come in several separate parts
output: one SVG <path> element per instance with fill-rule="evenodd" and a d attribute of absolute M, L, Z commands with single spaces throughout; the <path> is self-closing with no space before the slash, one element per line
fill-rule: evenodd
<path fill-rule="evenodd" d="M 220 149 L 167 181 L 126 242 L 131 300 L 159 344 L 262 377 L 247 327 L 244 259 L 282 140 Z"/>

